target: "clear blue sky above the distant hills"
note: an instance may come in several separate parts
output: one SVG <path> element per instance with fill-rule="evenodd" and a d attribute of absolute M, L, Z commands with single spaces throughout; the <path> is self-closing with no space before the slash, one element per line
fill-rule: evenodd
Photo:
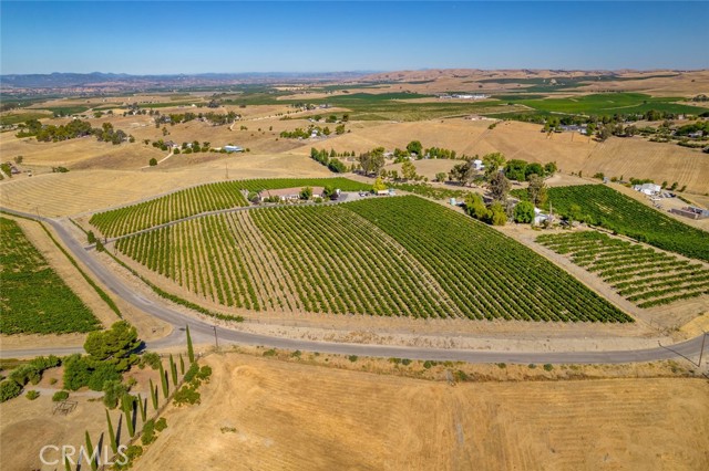
<path fill-rule="evenodd" d="M 708 69 L 707 2 L 0 3 L 0 72 Z"/>

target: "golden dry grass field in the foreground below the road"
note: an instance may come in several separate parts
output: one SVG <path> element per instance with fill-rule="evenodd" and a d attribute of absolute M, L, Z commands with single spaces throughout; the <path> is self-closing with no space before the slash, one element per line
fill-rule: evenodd
<path fill-rule="evenodd" d="M 136 470 L 699 470 L 698 379 L 467 383 L 209 356 Z M 356 391 L 356 393 L 353 393 Z M 215 411 L 218 410 L 218 414 Z"/>

